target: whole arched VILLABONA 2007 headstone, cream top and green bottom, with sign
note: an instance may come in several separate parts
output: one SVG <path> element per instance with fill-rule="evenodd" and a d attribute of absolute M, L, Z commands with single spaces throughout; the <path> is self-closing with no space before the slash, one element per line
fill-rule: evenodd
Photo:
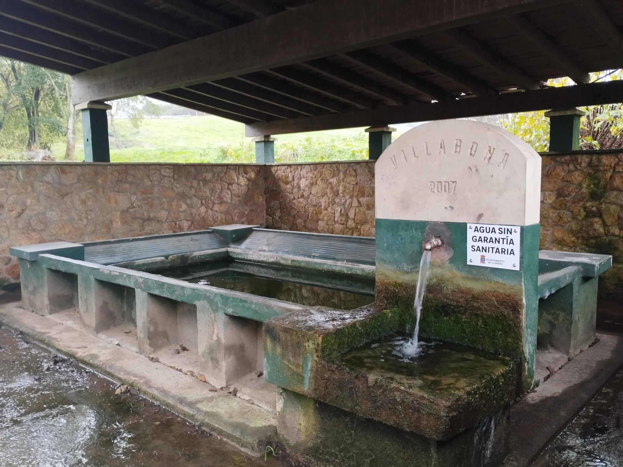
<path fill-rule="evenodd" d="M 424 243 L 432 250 L 420 333 L 521 362 L 534 375 L 540 156 L 474 121 L 407 131 L 376 172 L 376 296 L 412 308 Z"/>

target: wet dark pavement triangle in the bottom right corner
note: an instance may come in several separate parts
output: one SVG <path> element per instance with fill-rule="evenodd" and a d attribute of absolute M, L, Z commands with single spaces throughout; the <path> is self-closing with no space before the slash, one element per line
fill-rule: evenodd
<path fill-rule="evenodd" d="M 535 462 L 538 467 L 623 467 L 623 367 Z"/>

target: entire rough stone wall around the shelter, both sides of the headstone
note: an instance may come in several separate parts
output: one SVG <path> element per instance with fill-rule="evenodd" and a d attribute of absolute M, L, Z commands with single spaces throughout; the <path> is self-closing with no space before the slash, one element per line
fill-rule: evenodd
<path fill-rule="evenodd" d="M 606 253 L 603 296 L 623 298 L 623 153 L 543 156 L 541 248 Z M 265 225 L 374 237 L 374 163 L 0 164 L 0 285 L 9 246 Z"/>

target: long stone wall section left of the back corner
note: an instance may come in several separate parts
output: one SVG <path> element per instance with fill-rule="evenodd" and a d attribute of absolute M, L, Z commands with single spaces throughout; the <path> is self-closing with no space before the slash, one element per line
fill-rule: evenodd
<path fill-rule="evenodd" d="M 0 285 L 19 280 L 9 247 L 265 224 L 264 167 L 0 164 Z"/>

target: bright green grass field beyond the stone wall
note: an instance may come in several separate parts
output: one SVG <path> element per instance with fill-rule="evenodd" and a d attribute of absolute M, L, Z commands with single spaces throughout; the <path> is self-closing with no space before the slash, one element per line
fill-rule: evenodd
<path fill-rule="evenodd" d="M 129 120 L 115 121 L 111 134 L 112 162 L 250 163 L 254 145 L 244 136 L 244 125 L 217 116 L 150 118 L 138 129 Z M 112 128 L 108 126 L 109 133 Z M 397 132 L 399 133 L 399 132 Z M 50 146 L 52 156 L 65 157 L 65 141 Z M 336 161 L 368 158 L 368 135 L 363 128 L 283 134 L 275 142 L 277 162 Z M 0 149 L 1 159 L 21 159 L 16 151 Z M 75 159 L 84 160 L 80 125 Z"/>

